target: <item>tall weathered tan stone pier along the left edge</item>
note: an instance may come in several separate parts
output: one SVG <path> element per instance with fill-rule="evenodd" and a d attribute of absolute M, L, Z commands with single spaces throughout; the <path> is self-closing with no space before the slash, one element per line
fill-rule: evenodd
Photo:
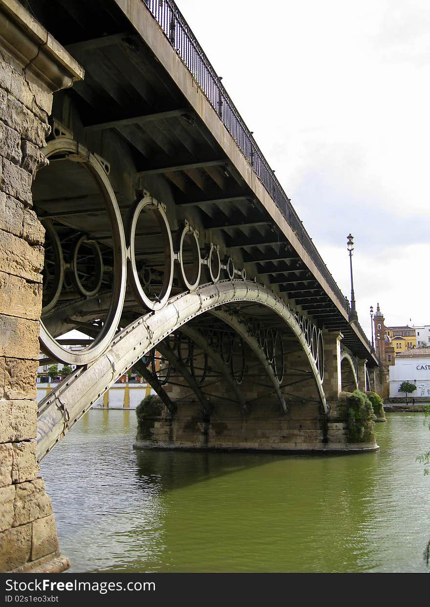
<path fill-rule="evenodd" d="M 47 163 L 54 87 L 32 62 L 46 46 L 49 73 L 54 42 L 18 2 L 0 0 L 0 571 L 69 566 L 35 456 L 44 228 L 31 188 Z"/>

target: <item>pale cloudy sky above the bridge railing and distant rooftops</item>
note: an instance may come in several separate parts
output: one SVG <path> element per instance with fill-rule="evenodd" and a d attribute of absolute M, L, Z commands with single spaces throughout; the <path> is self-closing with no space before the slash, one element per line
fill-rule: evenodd
<path fill-rule="evenodd" d="M 364 331 L 430 324 L 430 2 L 177 5 Z"/>

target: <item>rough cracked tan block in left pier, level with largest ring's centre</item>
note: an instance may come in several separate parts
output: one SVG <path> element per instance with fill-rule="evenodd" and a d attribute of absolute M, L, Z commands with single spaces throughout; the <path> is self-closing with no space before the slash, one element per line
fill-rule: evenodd
<path fill-rule="evenodd" d="M 0 230 L 0 242 L 0 272 L 42 282 L 43 246 L 29 245 L 4 230 Z"/>

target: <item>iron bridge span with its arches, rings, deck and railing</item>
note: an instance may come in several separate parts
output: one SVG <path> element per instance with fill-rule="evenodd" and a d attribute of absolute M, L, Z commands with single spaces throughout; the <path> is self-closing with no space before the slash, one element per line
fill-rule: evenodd
<path fill-rule="evenodd" d="M 186 398 L 202 419 L 217 399 L 285 413 L 309 382 L 327 412 L 326 336 L 351 386 L 377 360 L 176 4 L 26 4 L 85 70 L 54 94 L 32 189 L 43 363 L 74 367 L 39 404 L 38 458 L 133 365 L 172 415 Z"/>

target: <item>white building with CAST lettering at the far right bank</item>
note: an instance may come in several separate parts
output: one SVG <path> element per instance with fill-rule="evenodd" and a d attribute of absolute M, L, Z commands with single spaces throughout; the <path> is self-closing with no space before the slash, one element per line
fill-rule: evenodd
<path fill-rule="evenodd" d="M 389 396 L 404 396 L 398 392 L 400 384 L 409 381 L 417 386 L 415 396 L 430 398 L 430 347 L 411 348 L 395 357 L 395 364 L 389 368 Z"/>

